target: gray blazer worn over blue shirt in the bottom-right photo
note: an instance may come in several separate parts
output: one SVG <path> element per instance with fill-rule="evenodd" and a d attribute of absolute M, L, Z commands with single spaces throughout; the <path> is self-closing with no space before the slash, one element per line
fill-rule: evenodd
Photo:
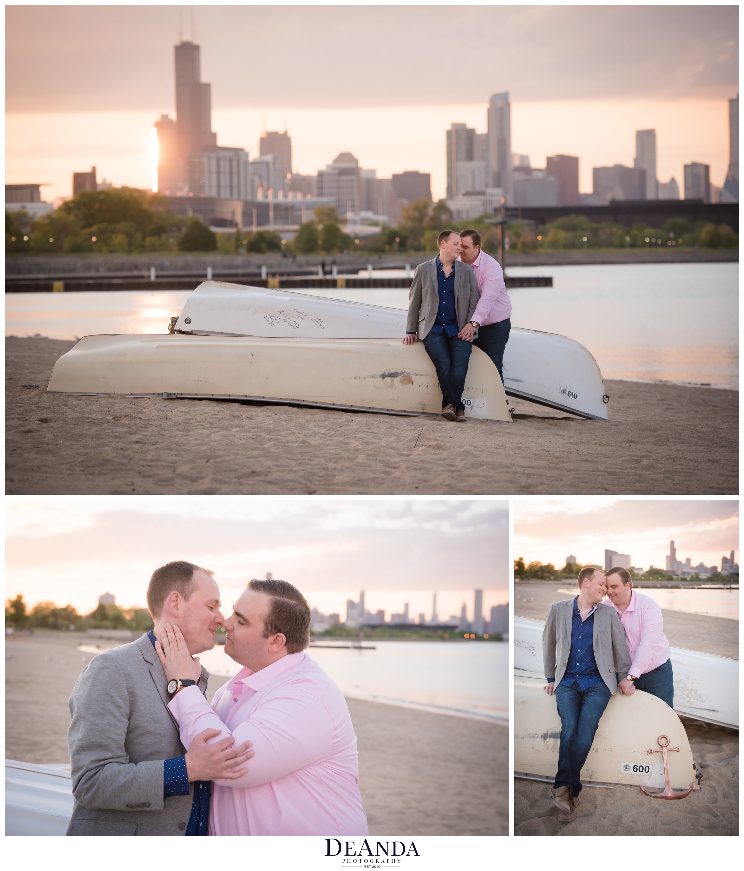
<path fill-rule="evenodd" d="M 554 602 L 548 611 L 543 631 L 543 664 L 545 677 L 561 682 L 571 652 L 573 599 Z M 612 695 L 618 692 L 618 675 L 625 678 L 631 667 L 626 633 L 614 608 L 598 605 L 594 611 L 594 659 L 599 674 Z"/>

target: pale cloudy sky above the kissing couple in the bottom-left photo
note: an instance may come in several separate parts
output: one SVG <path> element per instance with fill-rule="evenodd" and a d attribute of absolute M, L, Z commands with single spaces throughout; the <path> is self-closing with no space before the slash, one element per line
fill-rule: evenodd
<path fill-rule="evenodd" d="M 370 611 L 440 618 L 484 590 L 486 614 L 508 601 L 508 503 L 496 500 L 6 500 L 6 596 L 88 613 L 112 592 L 145 606 L 152 571 L 173 559 L 216 572 L 227 613 L 252 577 L 271 571 L 323 613 L 346 616 L 366 591 Z"/>

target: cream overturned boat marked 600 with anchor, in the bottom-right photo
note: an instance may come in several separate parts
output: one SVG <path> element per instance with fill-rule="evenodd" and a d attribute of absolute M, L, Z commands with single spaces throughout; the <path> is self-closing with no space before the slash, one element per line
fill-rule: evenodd
<path fill-rule="evenodd" d="M 553 782 L 558 771 L 560 717 L 555 696 L 543 691 L 542 675 L 516 672 L 514 679 L 514 773 L 517 777 Z M 664 760 L 659 736 L 666 735 L 670 786 L 685 790 L 694 784 L 697 767 L 690 742 L 680 718 L 656 696 L 634 692 L 620 693 L 607 703 L 594 735 L 592 749 L 581 769 L 585 786 L 614 784 L 662 790 L 665 787 Z M 639 793 L 639 801 L 647 801 Z"/>

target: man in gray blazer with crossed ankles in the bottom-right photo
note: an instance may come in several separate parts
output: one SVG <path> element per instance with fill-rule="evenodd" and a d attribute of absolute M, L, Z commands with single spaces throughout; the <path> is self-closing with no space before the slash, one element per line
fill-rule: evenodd
<path fill-rule="evenodd" d="M 607 702 L 618 692 L 618 674 L 625 677 L 631 665 L 617 613 L 598 607 L 605 592 L 605 573 L 582 569 L 578 596 L 554 602 L 543 631 L 544 690 L 555 695 L 561 722 L 551 789 L 560 822 L 576 819 L 581 769 Z"/>

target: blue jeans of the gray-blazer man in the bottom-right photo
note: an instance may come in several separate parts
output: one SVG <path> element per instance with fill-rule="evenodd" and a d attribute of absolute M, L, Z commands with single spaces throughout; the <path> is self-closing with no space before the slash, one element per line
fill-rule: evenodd
<path fill-rule="evenodd" d="M 571 686 L 556 687 L 561 728 L 558 773 L 553 787 L 568 787 L 574 798 L 581 792 L 579 775 L 592 748 L 599 719 L 611 698 L 604 680 L 586 690 L 575 680 Z"/>

